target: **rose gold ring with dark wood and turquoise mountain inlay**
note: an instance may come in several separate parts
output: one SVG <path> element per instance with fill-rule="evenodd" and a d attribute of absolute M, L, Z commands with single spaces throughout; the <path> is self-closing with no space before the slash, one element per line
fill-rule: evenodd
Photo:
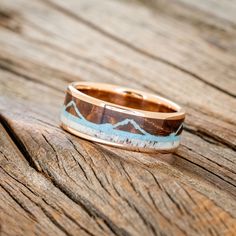
<path fill-rule="evenodd" d="M 61 127 L 81 138 L 140 152 L 173 152 L 185 118 L 176 103 L 117 85 L 74 82 L 66 90 Z"/>

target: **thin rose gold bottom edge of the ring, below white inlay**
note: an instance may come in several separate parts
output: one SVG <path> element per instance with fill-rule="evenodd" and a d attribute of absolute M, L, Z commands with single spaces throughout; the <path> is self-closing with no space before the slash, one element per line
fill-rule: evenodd
<path fill-rule="evenodd" d="M 103 139 L 92 137 L 90 135 L 87 135 L 87 134 L 81 133 L 79 131 L 76 131 L 76 130 L 70 128 L 69 126 L 67 126 L 63 123 L 61 123 L 60 126 L 64 130 L 68 131 L 69 133 L 71 133 L 71 134 L 73 134 L 73 135 L 75 135 L 79 138 L 86 139 L 86 140 L 91 141 L 91 142 L 97 142 L 97 143 L 100 143 L 100 144 L 105 144 L 105 145 L 112 146 L 112 147 L 115 147 L 115 148 L 121 148 L 121 149 L 129 150 L 129 151 L 142 152 L 142 153 L 167 154 L 167 153 L 173 153 L 177 149 L 177 147 L 172 148 L 172 149 L 168 149 L 168 150 L 157 150 L 157 149 L 151 149 L 151 148 L 132 147 L 132 146 L 123 145 L 123 144 L 119 144 L 119 143 L 113 143 L 113 142 L 110 142 L 110 141 L 106 141 L 106 140 L 103 140 Z"/>

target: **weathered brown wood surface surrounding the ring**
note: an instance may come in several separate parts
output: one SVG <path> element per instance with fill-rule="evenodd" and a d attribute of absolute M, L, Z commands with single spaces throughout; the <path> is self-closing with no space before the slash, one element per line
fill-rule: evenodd
<path fill-rule="evenodd" d="M 59 128 L 71 81 L 185 107 L 147 155 Z M 1 235 L 236 235 L 236 1 L 1 0 Z"/>

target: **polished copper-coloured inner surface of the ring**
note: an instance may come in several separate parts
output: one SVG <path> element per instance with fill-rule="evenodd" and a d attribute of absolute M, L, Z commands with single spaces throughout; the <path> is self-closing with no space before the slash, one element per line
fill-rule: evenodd
<path fill-rule="evenodd" d="M 177 112 L 176 109 L 171 106 L 168 107 L 167 105 L 162 104 L 161 101 L 152 102 L 143 99 L 143 96 L 141 94 L 135 93 L 133 91 L 127 90 L 122 91 L 122 93 L 117 93 L 96 88 L 77 88 L 77 90 L 88 96 L 129 108 L 151 112 Z"/>

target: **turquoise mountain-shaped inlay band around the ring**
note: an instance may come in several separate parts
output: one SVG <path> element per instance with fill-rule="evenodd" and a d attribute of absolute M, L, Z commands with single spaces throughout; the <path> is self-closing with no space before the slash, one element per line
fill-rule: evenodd
<path fill-rule="evenodd" d="M 79 117 L 76 117 L 69 112 L 66 111 L 66 109 L 70 106 L 73 106 L 75 109 L 75 112 Z M 125 119 L 121 122 L 118 122 L 114 125 L 106 123 L 106 124 L 95 124 L 93 122 L 90 122 L 86 120 L 83 115 L 78 110 L 76 104 L 74 101 L 69 102 L 66 106 L 63 107 L 62 116 L 67 118 L 69 121 L 75 122 L 76 124 L 80 124 L 82 126 L 91 128 L 93 130 L 96 130 L 98 132 L 102 132 L 106 135 L 115 135 L 118 136 L 123 141 L 131 140 L 131 139 L 137 139 L 137 140 L 143 140 L 143 141 L 151 141 L 151 142 L 174 142 L 179 141 L 180 136 L 176 136 L 178 131 L 181 129 L 182 124 L 178 128 L 178 130 L 175 133 L 172 133 L 168 136 L 156 136 L 147 133 L 145 130 L 143 130 L 134 120 L 131 119 Z M 131 132 L 123 131 L 123 130 L 117 130 L 115 128 L 126 125 L 126 124 L 132 124 L 137 130 L 139 130 L 142 134 L 134 134 Z"/>

